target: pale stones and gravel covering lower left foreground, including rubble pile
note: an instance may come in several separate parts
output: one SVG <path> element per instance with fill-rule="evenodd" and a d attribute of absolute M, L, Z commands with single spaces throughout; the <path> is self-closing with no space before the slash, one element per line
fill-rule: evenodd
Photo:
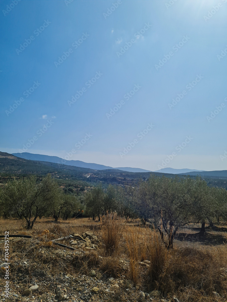
<path fill-rule="evenodd" d="M 44 230 L 45 233 L 45 230 Z M 42 238 L 43 239 L 43 238 Z M 65 240 L 67 239 L 67 240 Z M 31 242 L 30 242 L 31 241 Z M 41 241 L 42 242 L 42 241 Z M 89 254 L 91 250 L 98 249 L 100 240 L 92 232 L 85 232 L 81 235 L 73 234 L 61 238 L 61 240 L 53 240 L 46 242 L 46 246 L 40 245 L 39 239 L 16 238 L 10 239 L 10 244 L 15 246 L 17 252 L 14 253 L 11 259 L 11 274 L 10 274 L 10 290 L 9 299 L 5 297 L 5 293 L 1 291 L 0 301 L 117 301 L 119 296 L 124 296 L 125 301 L 150 300 L 150 301 L 176 301 L 176 297 L 162 297 L 160 291 L 144 292 L 141 288 L 133 287 L 133 283 L 127 279 L 125 275 L 120 275 L 118 278 L 113 277 L 107 271 L 100 271 L 94 265 L 94 269 L 89 269 L 87 274 L 84 273 L 83 265 L 81 270 L 77 271 L 75 267 L 80 267 L 75 262 L 83 261 L 84 255 Z M 61 246 L 54 246 L 56 243 L 64 243 L 71 246 L 74 250 L 64 249 Z M 3 242 L 0 242 L 0 244 Z M 29 246 L 29 247 L 28 247 Z M 54 248 L 53 248 L 54 246 Z M 18 249 L 16 248 L 18 247 Z M 22 247 L 22 255 L 21 249 Z M 19 251 L 18 251 L 19 250 Z M 23 255 L 23 251 L 24 255 Z M 31 257 L 31 256 L 36 256 Z M 22 256 L 22 257 L 21 257 Z M 27 256 L 27 257 L 26 257 Z M 102 262 L 103 256 L 97 256 L 97 262 Z M 37 260 L 43 259 L 42 264 L 37 265 Z M 43 262 L 48 260 L 53 262 L 56 259 L 56 267 L 64 263 L 65 267 L 71 266 L 71 273 L 67 270 L 59 271 L 57 274 L 51 274 L 48 269 L 45 271 Z M 89 260 L 89 256 L 87 257 Z M 140 262 L 140 266 L 146 268 L 149 266 L 149 261 Z M 119 259 L 119 267 L 122 271 L 128 271 L 129 261 Z M 1 264 L 1 286 L 4 286 L 5 270 L 4 262 Z M 89 266 L 89 265 L 88 265 Z M 92 266 L 92 265 L 90 265 Z M 54 271 L 54 270 L 53 270 Z"/>

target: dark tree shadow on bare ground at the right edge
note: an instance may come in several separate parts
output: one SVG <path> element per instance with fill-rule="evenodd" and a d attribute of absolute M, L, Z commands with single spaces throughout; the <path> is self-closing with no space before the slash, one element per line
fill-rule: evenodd
<path fill-rule="evenodd" d="M 201 235 L 201 233 L 178 233 L 175 238 L 179 241 L 198 242 L 204 245 L 222 245 L 223 242 L 227 243 L 227 239 L 223 235 L 208 232 L 204 235 Z"/>

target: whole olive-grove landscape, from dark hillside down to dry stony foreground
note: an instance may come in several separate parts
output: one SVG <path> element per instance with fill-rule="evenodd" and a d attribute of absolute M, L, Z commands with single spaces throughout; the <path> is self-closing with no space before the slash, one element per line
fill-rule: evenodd
<path fill-rule="evenodd" d="M 54 292 L 56 301 L 84 292 L 111 302 L 227 298 L 227 191 L 217 179 L 64 169 L 7 154 L 0 163 L 1 230 L 13 237 L 10 274 L 22 301 Z"/>

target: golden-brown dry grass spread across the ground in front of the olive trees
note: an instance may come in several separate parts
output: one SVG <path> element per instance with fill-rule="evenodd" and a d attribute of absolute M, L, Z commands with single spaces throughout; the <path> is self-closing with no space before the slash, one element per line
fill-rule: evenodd
<path fill-rule="evenodd" d="M 159 233 L 133 226 L 132 223 L 125 225 L 124 220 L 116 216 L 112 219 L 110 215 L 101 223 L 82 218 L 55 224 L 42 218 L 37 220 L 32 230 L 25 230 L 23 226 L 23 220 L 0 219 L 1 234 L 9 230 L 10 234 L 32 236 L 31 239 L 10 239 L 12 278 L 19 272 L 22 274 L 22 283 L 29 282 L 32 274 L 42 279 L 46 274 L 58 275 L 59 272 L 88 274 L 94 268 L 114 278 L 125 275 L 124 278 L 130 278 L 143 291 L 158 289 L 164 296 L 167 295 L 166 300 L 175 295 L 185 302 L 227 301 L 225 244 L 212 246 L 201 241 L 192 243 L 175 240 L 174 246 L 178 242 L 178 248 L 168 251 Z M 49 233 L 43 235 L 44 230 L 49 230 Z M 102 238 L 107 257 L 99 257 L 102 255 L 100 249 L 77 255 L 68 250 L 64 253 L 64 248 L 48 244 L 52 239 L 72 233 L 82 234 L 87 230 L 92 230 L 99 239 Z M 216 236 L 215 232 L 208 232 Z M 225 236 L 225 232 L 219 233 Z M 3 258 L 3 244 L 0 252 Z M 70 257 L 67 258 L 65 254 Z M 129 266 L 123 264 L 121 259 L 126 260 L 124 263 L 129 263 Z M 149 268 L 138 266 L 138 262 L 143 260 L 150 260 Z M 24 261 L 29 262 L 28 267 L 23 265 Z M 214 297 L 212 291 L 219 293 L 220 297 Z M 119 298 L 122 299 L 123 296 Z"/>

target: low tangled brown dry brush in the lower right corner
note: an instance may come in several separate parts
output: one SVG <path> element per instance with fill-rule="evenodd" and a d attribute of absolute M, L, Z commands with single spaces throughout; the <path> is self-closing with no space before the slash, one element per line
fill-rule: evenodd
<path fill-rule="evenodd" d="M 185 247 L 173 251 L 168 272 L 168 278 L 171 278 L 175 285 L 172 290 L 192 287 L 206 294 L 215 291 L 226 295 L 226 256 L 224 248 L 211 250 L 207 247 Z"/>

